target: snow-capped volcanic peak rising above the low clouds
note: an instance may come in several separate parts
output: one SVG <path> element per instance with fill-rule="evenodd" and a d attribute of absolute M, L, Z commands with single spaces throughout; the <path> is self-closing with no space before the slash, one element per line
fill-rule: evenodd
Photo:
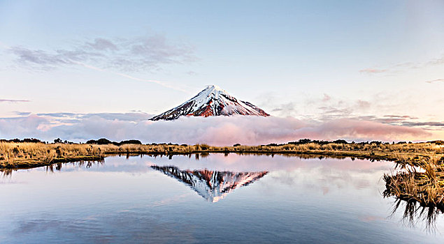
<path fill-rule="evenodd" d="M 220 116 L 220 115 L 255 115 L 270 116 L 264 110 L 234 98 L 219 86 L 207 86 L 206 89 L 199 92 L 194 98 L 187 100 L 178 107 L 170 109 L 162 114 L 152 117 L 150 120 L 173 120 L 180 116 Z"/>

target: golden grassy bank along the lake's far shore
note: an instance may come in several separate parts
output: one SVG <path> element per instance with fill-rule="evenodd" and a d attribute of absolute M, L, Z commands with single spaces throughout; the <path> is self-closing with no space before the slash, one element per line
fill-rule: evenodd
<path fill-rule="evenodd" d="M 409 162 L 418 165 L 430 153 L 442 155 L 443 146 L 433 143 L 418 144 L 283 144 L 263 146 L 208 146 L 206 144 L 44 144 L 0 142 L 0 168 L 22 168 L 50 165 L 55 162 L 101 160 L 109 154 L 176 155 L 190 153 L 264 153 L 313 154 L 373 160 Z M 402 160 L 400 160 L 402 159 Z"/>

